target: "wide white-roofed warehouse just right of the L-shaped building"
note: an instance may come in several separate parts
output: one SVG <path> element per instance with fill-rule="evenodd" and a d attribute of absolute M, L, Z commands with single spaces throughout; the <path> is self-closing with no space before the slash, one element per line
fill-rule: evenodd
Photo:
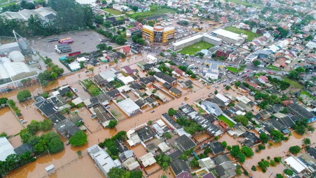
<path fill-rule="evenodd" d="M 233 44 L 242 44 L 244 43 L 248 36 L 244 34 L 233 33 L 224 29 L 218 29 L 211 33 L 212 36 L 222 39 L 225 42 Z"/>

